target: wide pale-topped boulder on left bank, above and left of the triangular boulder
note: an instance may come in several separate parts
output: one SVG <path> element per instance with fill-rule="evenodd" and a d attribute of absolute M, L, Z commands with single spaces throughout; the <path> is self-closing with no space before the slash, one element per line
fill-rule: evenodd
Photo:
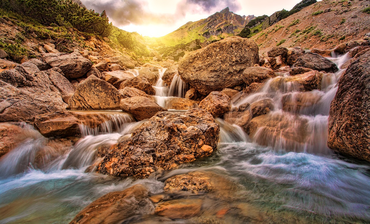
<path fill-rule="evenodd" d="M 92 66 L 90 60 L 76 53 L 48 53 L 43 55 L 44 60 L 51 67 L 60 68 L 66 78 L 78 78 L 85 75 Z"/>

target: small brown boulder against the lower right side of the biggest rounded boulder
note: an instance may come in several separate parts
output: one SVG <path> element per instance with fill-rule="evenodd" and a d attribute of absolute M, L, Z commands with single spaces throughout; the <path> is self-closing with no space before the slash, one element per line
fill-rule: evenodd
<path fill-rule="evenodd" d="M 243 81 L 249 86 L 253 82 L 261 83 L 275 77 L 275 72 L 266 67 L 247 67 L 243 72 Z"/>

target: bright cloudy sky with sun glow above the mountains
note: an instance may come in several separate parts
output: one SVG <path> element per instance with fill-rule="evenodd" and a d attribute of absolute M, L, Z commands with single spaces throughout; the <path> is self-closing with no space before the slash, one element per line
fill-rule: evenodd
<path fill-rule="evenodd" d="M 205 19 L 229 7 L 240 16 L 290 10 L 300 0 L 81 0 L 88 9 L 105 10 L 114 26 L 143 36 L 160 37 L 189 21 Z"/>

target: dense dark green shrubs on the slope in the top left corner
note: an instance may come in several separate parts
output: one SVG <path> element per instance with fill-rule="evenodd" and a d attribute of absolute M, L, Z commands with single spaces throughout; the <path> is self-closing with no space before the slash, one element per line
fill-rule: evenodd
<path fill-rule="evenodd" d="M 105 11 L 86 10 L 71 0 L 3 0 L 0 8 L 37 20 L 45 26 L 73 27 L 80 32 L 107 37 L 112 23 Z"/>

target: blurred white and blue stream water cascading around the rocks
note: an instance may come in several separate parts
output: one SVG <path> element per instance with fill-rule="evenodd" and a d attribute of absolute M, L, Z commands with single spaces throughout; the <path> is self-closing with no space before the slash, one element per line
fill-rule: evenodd
<path fill-rule="evenodd" d="M 347 59 L 344 55 L 333 61 L 340 65 Z M 80 126 L 83 136 L 63 150 L 51 147 L 48 141 L 53 139 L 29 128 L 28 138 L 0 159 L 0 223 L 68 223 L 108 192 L 140 183 L 151 194 L 162 194 L 165 178 L 199 170 L 242 185 L 238 203 L 250 205 L 247 213 L 262 214 L 260 222 L 252 223 L 370 223 L 369 163 L 342 157 L 326 146 L 330 102 L 343 72 L 324 75 L 321 90 L 299 92 L 296 83 L 284 81 L 289 75 L 283 75 L 268 80 L 259 92 L 235 99 L 233 106 L 272 99 L 274 109 L 269 118 L 279 128 L 269 132 L 261 127 L 250 139 L 239 126 L 217 118 L 221 127 L 218 150 L 162 177 L 135 180 L 95 172 L 105 150 L 129 138 L 142 124 L 122 112 L 102 112 L 111 120 L 95 129 Z M 156 90 L 157 97 L 165 99 L 169 88 L 161 80 L 163 73 L 164 69 L 160 70 Z M 295 102 L 298 97 L 306 103 L 284 108 L 282 99 Z M 302 129 L 302 123 L 306 138 L 289 138 Z M 215 223 L 250 222 L 234 215 Z"/>

